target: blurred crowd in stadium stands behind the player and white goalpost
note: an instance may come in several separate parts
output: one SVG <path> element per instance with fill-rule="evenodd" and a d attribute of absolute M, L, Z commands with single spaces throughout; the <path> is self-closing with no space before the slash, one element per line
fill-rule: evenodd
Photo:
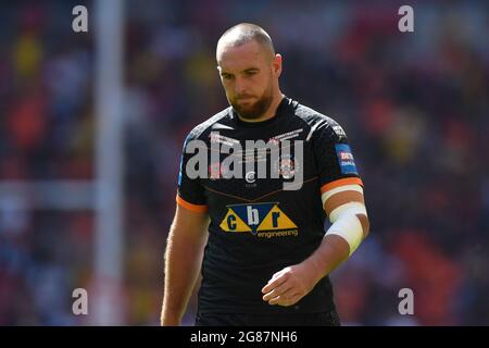
<path fill-rule="evenodd" d="M 89 33 L 71 29 L 76 4 Z M 401 4 L 415 33 L 398 30 Z M 91 1 L 0 2 L 0 325 L 95 322 L 72 313 L 73 289 L 93 281 L 93 210 L 41 207 L 29 186 L 5 194 L 96 178 L 93 12 Z M 333 275 L 343 324 L 489 325 L 487 3 L 127 0 L 124 12 L 116 323 L 159 323 L 181 144 L 227 105 L 216 40 L 253 22 L 284 57 L 286 95 L 343 125 L 366 185 L 371 236 Z M 404 287 L 414 315 L 398 313 Z M 185 324 L 195 310 L 192 297 Z"/>

